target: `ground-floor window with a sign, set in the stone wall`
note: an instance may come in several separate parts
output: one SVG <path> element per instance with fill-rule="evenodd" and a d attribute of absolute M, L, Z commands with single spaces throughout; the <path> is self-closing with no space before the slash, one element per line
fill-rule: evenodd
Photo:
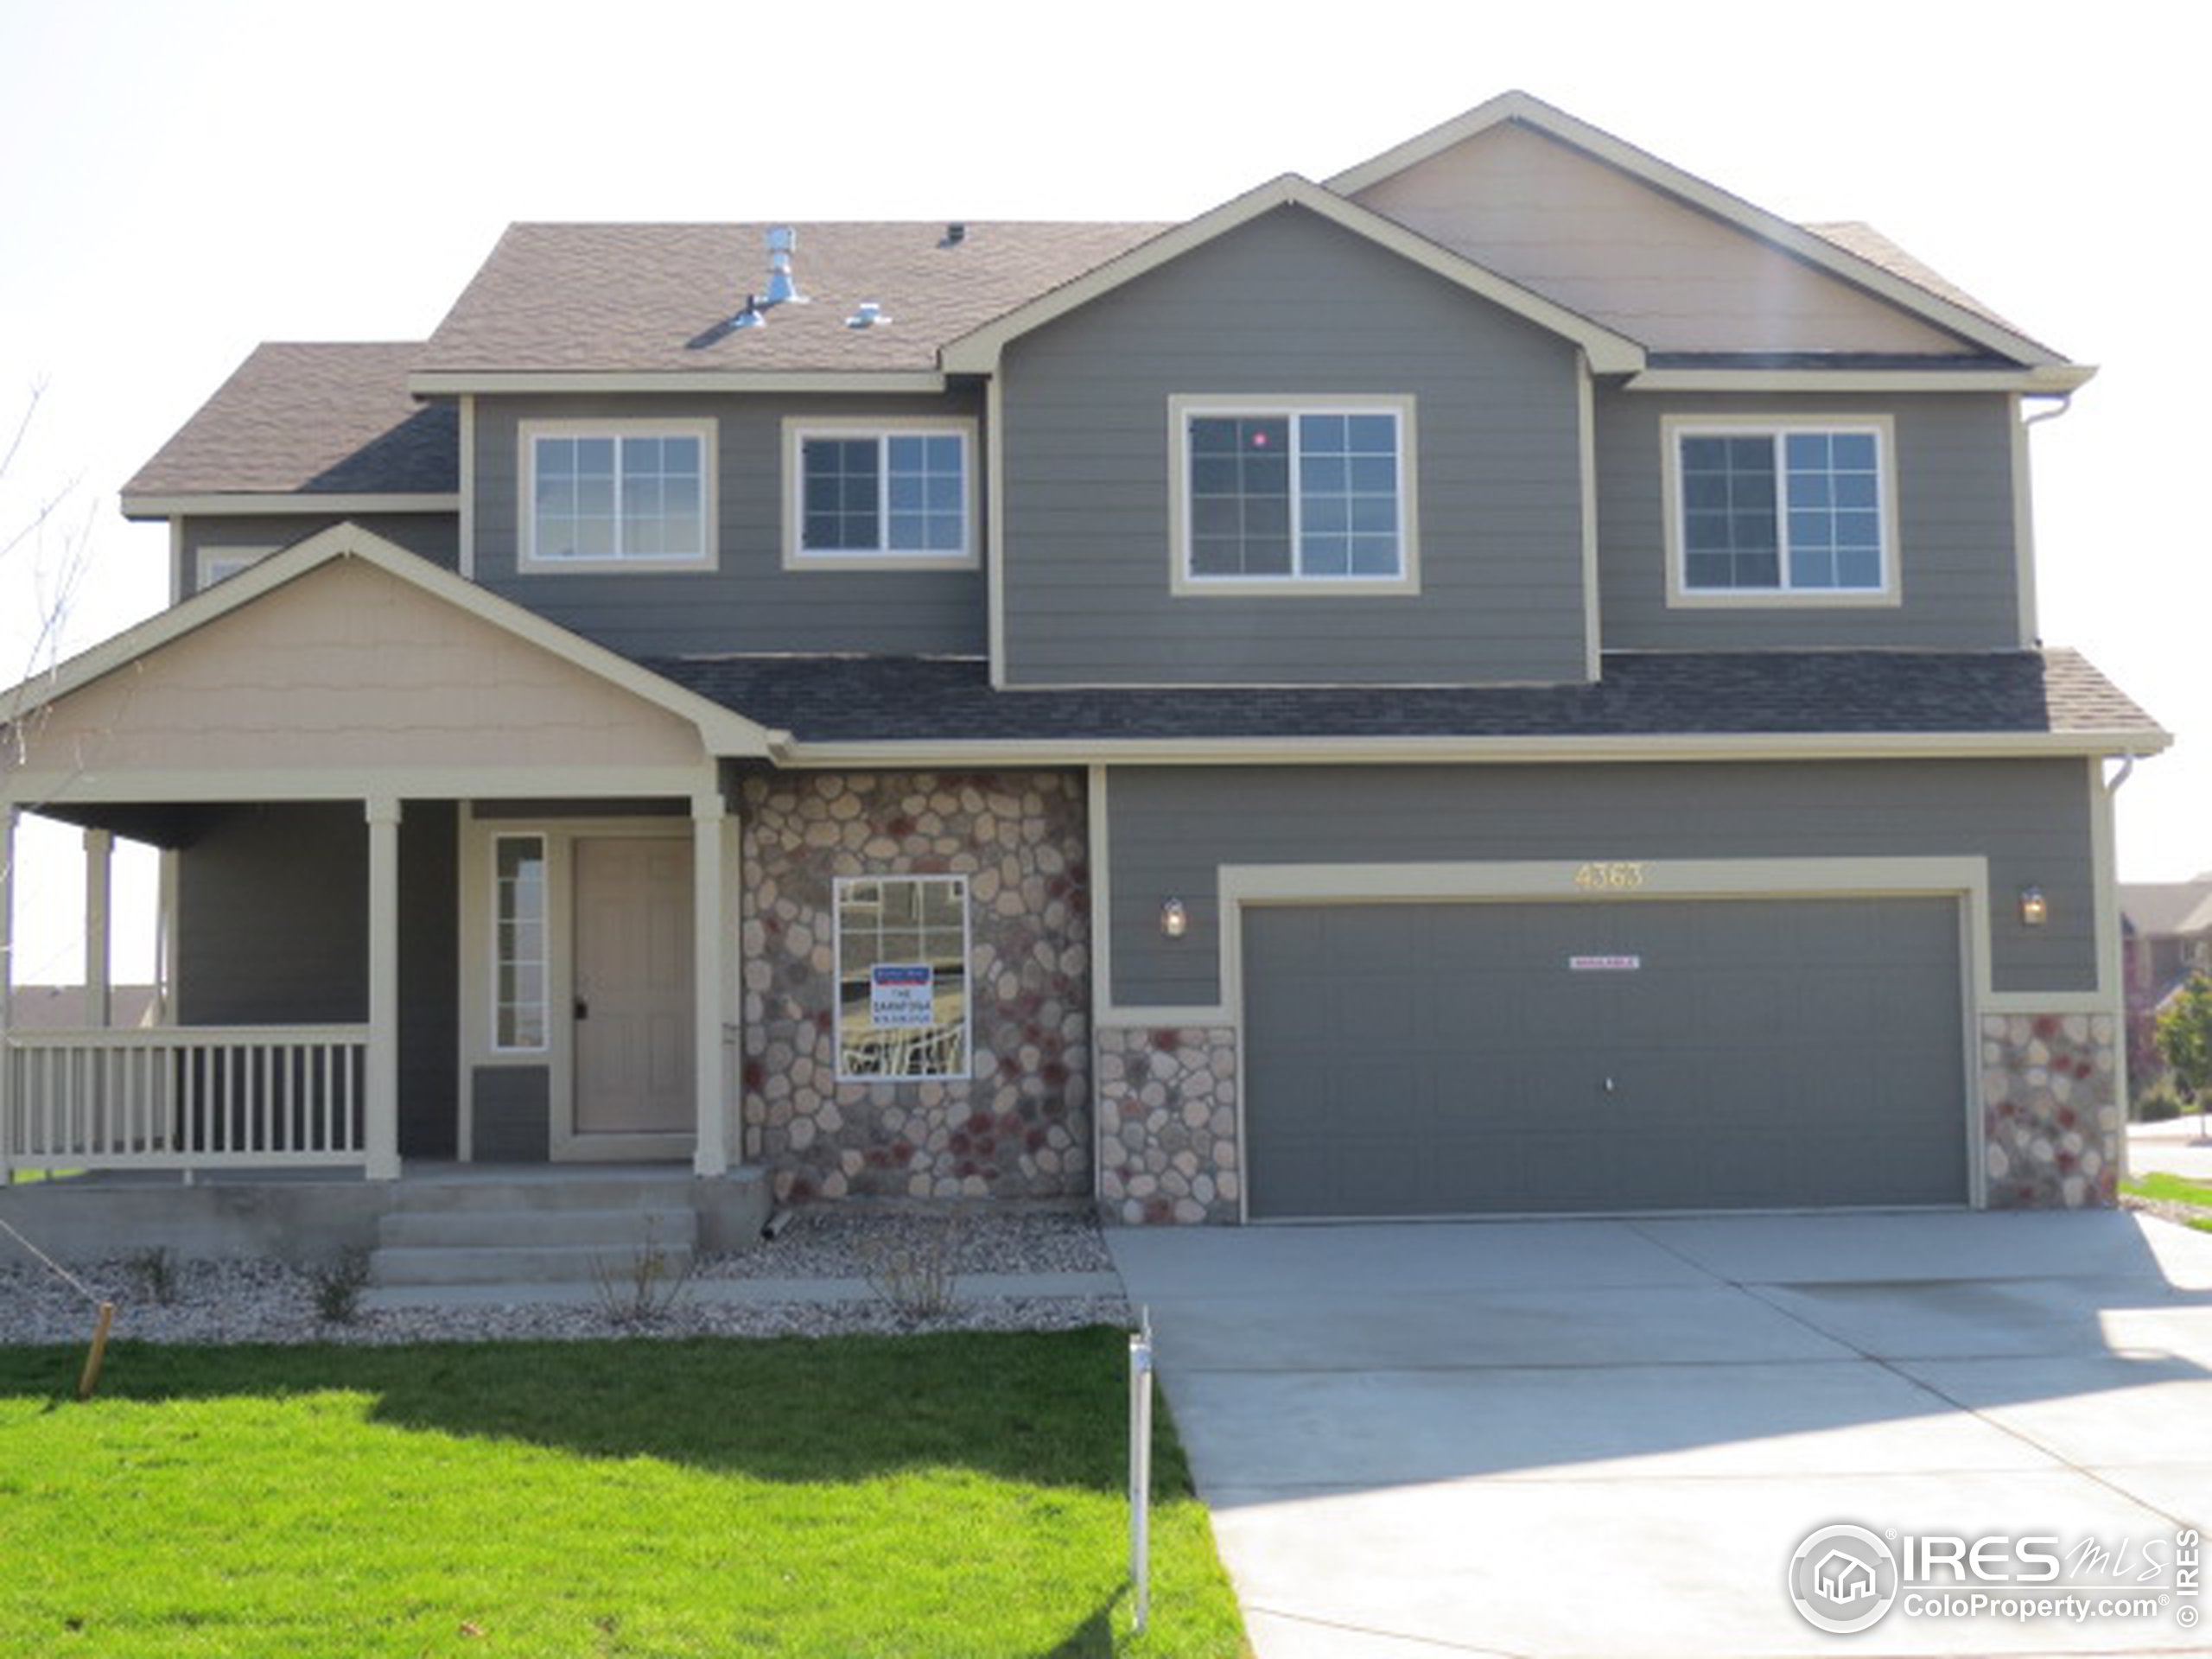
<path fill-rule="evenodd" d="M 967 876 L 836 878 L 836 1075 L 969 1075 Z"/>

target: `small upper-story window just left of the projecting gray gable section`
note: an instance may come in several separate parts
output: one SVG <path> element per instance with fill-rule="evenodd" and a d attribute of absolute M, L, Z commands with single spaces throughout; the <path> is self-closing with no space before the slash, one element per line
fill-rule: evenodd
<path fill-rule="evenodd" d="M 787 564 L 975 564 L 971 422 L 792 420 L 783 434 Z"/>

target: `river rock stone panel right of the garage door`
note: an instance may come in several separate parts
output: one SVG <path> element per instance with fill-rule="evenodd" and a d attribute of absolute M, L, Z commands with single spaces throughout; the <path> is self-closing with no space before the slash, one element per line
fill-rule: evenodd
<path fill-rule="evenodd" d="M 1991 1210 L 2119 1201 L 2117 1022 L 2088 1013 L 1982 1015 L 1982 1159 Z"/>

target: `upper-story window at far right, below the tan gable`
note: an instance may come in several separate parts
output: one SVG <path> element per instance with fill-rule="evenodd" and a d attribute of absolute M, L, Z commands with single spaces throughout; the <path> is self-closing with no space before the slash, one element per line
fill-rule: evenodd
<path fill-rule="evenodd" d="M 1668 420 L 1672 604 L 1896 604 L 1889 420 Z"/>

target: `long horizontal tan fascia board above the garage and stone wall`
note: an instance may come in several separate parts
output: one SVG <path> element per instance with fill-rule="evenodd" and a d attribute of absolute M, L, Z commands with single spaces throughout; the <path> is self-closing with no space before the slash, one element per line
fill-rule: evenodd
<path fill-rule="evenodd" d="M 1190 739 L 978 739 L 971 743 L 805 743 L 776 765 L 1597 765 L 1639 761 L 1916 761 L 2128 754 L 2172 745 L 2157 728 L 2112 732 L 1832 732 L 1686 737 L 1190 737 Z"/>

